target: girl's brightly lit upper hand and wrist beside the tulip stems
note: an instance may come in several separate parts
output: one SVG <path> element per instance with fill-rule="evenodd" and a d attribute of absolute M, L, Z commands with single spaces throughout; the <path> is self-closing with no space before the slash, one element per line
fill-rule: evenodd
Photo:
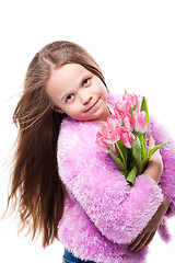
<path fill-rule="evenodd" d="M 154 139 L 150 136 L 148 152 L 155 146 Z M 159 183 L 161 174 L 163 172 L 162 156 L 159 150 L 156 150 L 150 158 L 148 168 L 144 173 L 152 178 L 156 183 Z"/>

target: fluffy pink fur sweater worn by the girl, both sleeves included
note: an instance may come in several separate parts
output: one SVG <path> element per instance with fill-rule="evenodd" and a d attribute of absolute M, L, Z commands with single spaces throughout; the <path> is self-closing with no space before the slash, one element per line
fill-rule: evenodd
<path fill-rule="evenodd" d="M 112 105 L 120 96 L 108 94 Z M 165 217 L 175 215 L 175 147 L 167 132 L 151 119 L 147 137 L 161 149 L 164 171 L 159 185 L 147 174 L 130 187 L 110 156 L 95 144 L 103 122 L 79 122 L 65 117 L 58 139 L 59 175 L 67 188 L 63 216 L 58 226 L 61 243 L 85 261 L 104 263 L 143 262 L 148 248 L 129 252 L 135 239 L 155 214 L 163 201 L 170 201 Z M 165 220 L 159 228 L 168 241 Z"/>

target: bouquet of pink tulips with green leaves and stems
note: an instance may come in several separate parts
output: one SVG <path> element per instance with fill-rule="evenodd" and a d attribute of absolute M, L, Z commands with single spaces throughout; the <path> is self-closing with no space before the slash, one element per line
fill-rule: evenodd
<path fill-rule="evenodd" d="M 135 178 L 144 172 L 150 157 L 165 144 L 147 150 L 145 134 L 150 121 L 144 96 L 125 92 L 122 101 L 115 103 L 114 112 L 97 132 L 96 144 L 109 152 L 127 182 L 133 185 Z"/>

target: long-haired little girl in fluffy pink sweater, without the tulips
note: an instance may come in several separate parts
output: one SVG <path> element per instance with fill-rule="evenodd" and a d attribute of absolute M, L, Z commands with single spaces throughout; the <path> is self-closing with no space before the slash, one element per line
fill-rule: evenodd
<path fill-rule="evenodd" d="M 9 202 L 43 245 L 65 245 L 62 262 L 139 263 L 162 218 L 175 214 L 175 151 L 163 127 L 150 122 L 154 153 L 133 187 L 95 144 L 120 96 L 81 46 L 55 42 L 35 55 L 13 121 L 19 126 Z M 154 142 L 155 141 L 155 142 Z"/>

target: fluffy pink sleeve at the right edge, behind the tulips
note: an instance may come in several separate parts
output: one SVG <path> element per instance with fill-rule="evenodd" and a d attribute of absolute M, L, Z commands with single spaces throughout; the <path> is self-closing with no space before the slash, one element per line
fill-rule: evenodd
<path fill-rule="evenodd" d="M 149 135 L 154 138 L 155 145 L 166 144 L 160 149 L 164 168 L 159 185 L 170 201 L 170 208 L 165 216 L 171 217 L 175 215 L 175 144 L 167 130 L 153 118 L 150 122 Z"/>

